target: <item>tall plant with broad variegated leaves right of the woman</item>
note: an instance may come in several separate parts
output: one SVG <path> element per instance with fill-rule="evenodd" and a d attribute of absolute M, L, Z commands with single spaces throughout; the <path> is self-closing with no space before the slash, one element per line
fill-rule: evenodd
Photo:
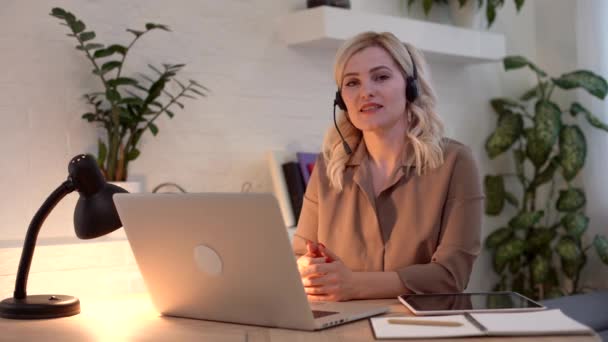
<path fill-rule="evenodd" d="M 495 289 L 537 299 L 581 292 L 580 274 L 589 249 L 608 264 L 608 240 L 596 235 L 589 241 L 585 235 L 589 224 L 585 192 L 573 180 L 585 164 L 587 145 L 576 120 L 583 117 L 604 131 L 608 126 L 580 103 L 560 108 L 552 97 L 555 90 L 581 88 L 604 99 L 608 85 L 588 70 L 550 77 L 521 56 L 506 57 L 504 67 L 507 71 L 528 67 L 538 83 L 519 99 L 490 101 L 498 120 L 486 141 L 486 152 L 491 159 L 511 152 L 515 162 L 513 172 L 484 178 L 486 214 L 499 215 L 505 204 L 516 212 L 485 240 L 500 275 Z M 508 189 L 506 184 L 513 182 L 520 189 Z M 537 197 L 541 189 L 548 190 L 543 192 L 546 199 Z"/>

